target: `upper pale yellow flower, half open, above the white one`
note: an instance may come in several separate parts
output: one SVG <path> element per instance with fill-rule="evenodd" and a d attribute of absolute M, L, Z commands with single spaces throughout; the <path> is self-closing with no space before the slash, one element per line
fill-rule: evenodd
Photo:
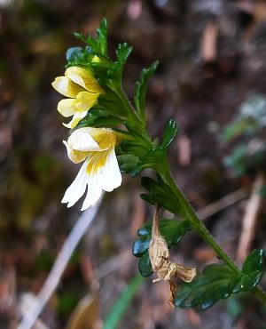
<path fill-rule="evenodd" d="M 62 116 L 73 116 L 69 124 L 64 124 L 71 129 L 97 104 L 99 94 L 104 92 L 92 73 L 80 67 L 66 68 L 65 76 L 56 77 L 51 85 L 68 97 L 59 101 L 58 110 Z"/>

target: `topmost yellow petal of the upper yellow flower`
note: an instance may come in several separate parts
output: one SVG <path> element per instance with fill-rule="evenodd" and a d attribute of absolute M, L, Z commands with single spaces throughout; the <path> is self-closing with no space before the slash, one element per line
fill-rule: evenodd
<path fill-rule="evenodd" d="M 89 69 L 79 67 L 66 68 L 65 76 L 89 92 L 104 92 Z"/>

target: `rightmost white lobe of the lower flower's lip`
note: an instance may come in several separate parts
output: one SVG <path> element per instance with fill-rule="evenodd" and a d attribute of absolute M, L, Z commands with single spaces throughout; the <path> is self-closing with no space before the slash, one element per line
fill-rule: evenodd
<path fill-rule="evenodd" d="M 100 186 L 106 192 L 111 192 L 121 186 L 121 172 L 119 165 L 115 156 L 114 148 L 108 151 L 108 156 L 106 157 L 106 164 L 104 165 L 101 175 L 99 177 Z"/>

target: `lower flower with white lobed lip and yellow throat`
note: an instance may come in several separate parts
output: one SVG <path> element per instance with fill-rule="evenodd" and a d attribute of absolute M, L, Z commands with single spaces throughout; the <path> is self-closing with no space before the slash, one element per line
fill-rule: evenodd
<path fill-rule="evenodd" d="M 66 189 L 63 204 L 67 207 L 74 205 L 88 186 L 83 211 L 98 202 L 102 190 L 111 192 L 121 186 L 121 172 L 114 151 L 119 140 L 119 134 L 111 129 L 90 127 L 77 129 L 67 141 L 63 140 L 70 160 L 74 164 L 84 161 L 73 183 Z"/>

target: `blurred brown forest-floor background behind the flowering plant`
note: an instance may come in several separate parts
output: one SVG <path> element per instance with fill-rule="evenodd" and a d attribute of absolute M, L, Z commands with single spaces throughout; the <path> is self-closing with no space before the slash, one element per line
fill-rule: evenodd
<path fill-rule="evenodd" d="M 62 144 L 67 132 L 51 82 L 64 72 L 66 49 L 82 45 L 73 32 L 93 33 L 103 17 L 111 57 L 118 43 L 134 47 L 124 74 L 129 98 L 142 68 L 160 60 L 148 92 L 149 130 L 161 137 L 166 121 L 176 119 L 170 163 L 207 228 L 239 263 L 266 247 L 266 3 L 0 0 L 1 329 L 16 328 L 21 298 L 40 291 L 81 215 L 81 203 L 60 204 L 78 167 Z M 106 195 L 35 328 L 102 327 L 137 273 L 132 244 L 152 214 L 141 192 L 139 177 L 124 177 Z M 216 261 L 192 233 L 172 254 L 198 269 Z M 85 311 L 78 307 L 76 314 L 85 324 L 69 323 L 83 298 Z M 168 285 L 148 278 L 116 327 L 262 329 L 265 323 L 266 309 L 245 294 L 204 312 L 173 309 Z"/>

